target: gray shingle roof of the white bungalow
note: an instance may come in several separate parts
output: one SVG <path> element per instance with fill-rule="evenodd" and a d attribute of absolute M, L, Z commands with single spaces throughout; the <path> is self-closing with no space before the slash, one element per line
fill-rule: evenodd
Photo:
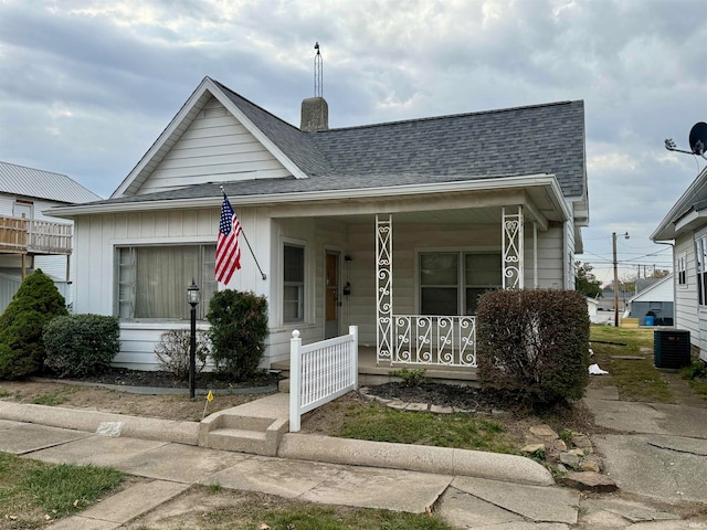
<path fill-rule="evenodd" d="M 564 197 L 583 198 L 587 193 L 584 104 L 581 100 L 305 132 L 226 86 L 213 83 L 308 177 L 224 182 L 229 195 L 542 173 L 557 177 Z M 106 202 L 219 194 L 218 183 L 196 184 Z"/>

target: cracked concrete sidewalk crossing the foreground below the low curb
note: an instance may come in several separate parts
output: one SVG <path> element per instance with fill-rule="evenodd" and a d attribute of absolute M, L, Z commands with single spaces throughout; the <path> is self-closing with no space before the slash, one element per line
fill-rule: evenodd
<path fill-rule="evenodd" d="M 76 411 L 81 412 L 81 411 Z M 305 436 L 305 435 L 302 435 Z M 449 517 L 518 522 L 577 522 L 579 494 L 449 474 L 263 457 L 184 444 L 108 437 L 61 427 L 0 420 L 0 451 L 50 463 L 112 466 L 150 479 L 53 529 L 113 529 L 173 499 L 192 484 L 260 491 L 319 504 L 423 513 L 455 491 Z M 515 491 L 514 495 L 509 495 Z M 487 500 L 484 500 L 484 498 Z M 461 508 L 474 499 L 474 510 Z M 462 511 L 462 513 L 456 513 Z M 486 515 L 484 515 L 486 513 Z M 504 527 L 508 528 L 508 527 Z M 513 528 L 513 527 L 511 527 Z M 558 527 L 558 528 L 567 528 Z"/>

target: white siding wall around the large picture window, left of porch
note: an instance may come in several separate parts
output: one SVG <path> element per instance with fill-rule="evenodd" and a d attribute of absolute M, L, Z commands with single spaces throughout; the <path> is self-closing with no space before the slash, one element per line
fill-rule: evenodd
<path fill-rule="evenodd" d="M 261 264 L 270 262 L 270 220 L 253 210 L 236 211 L 253 252 Z M 76 312 L 115 315 L 116 245 L 215 243 L 220 210 L 155 211 L 134 214 L 92 215 L 76 223 Z M 241 271 L 229 288 L 252 290 L 268 297 L 270 283 L 260 272 L 243 240 Z M 267 269 L 264 272 L 268 275 Z M 186 301 L 184 285 L 184 304 Z M 117 365 L 155 369 L 154 348 L 159 336 L 187 321 L 134 321 L 122 324 Z"/>

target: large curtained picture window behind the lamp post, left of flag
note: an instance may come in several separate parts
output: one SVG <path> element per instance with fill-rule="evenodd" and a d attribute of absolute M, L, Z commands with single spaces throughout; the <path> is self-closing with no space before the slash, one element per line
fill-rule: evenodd
<path fill-rule="evenodd" d="M 197 318 L 203 319 L 217 292 L 215 245 L 126 246 L 117 248 L 120 319 L 188 319 L 187 287 L 200 289 Z"/>

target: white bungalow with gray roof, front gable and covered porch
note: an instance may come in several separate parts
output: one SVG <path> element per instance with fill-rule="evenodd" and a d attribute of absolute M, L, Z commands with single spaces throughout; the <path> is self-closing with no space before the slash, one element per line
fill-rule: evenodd
<path fill-rule="evenodd" d="M 265 365 L 295 329 L 308 343 L 349 325 L 386 365 L 474 365 L 481 294 L 573 288 L 581 100 L 333 129 L 327 113 L 305 99 L 297 128 L 205 77 L 108 200 L 53 209 L 75 221 L 76 311 L 120 318 L 116 364 L 155 367 L 192 277 L 199 318 L 217 289 L 267 298 Z M 247 240 L 229 285 L 221 187 Z"/>

